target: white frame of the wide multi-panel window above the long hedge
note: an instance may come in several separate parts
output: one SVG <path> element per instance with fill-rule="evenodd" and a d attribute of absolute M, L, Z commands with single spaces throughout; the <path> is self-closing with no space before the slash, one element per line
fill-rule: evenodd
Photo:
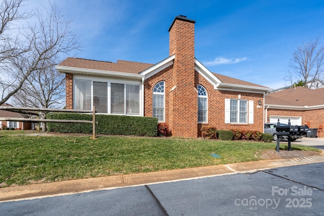
<path fill-rule="evenodd" d="M 91 110 L 93 109 L 93 82 L 106 82 L 107 83 L 107 113 L 98 113 L 98 114 L 108 114 L 108 115 L 129 115 L 129 116 L 143 116 L 143 107 L 142 107 L 142 100 L 143 100 L 143 94 L 142 94 L 142 80 L 125 80 L 125 79 L 119 79 L 119 78 L 105 78 L 105 77 L 90 77 L 90 76 L 84 76 L 84 75 L 73 75 L 73 109 L 75 109 L 76 106 L 76 85 L 75 80 L 88 80 L 91 81 Z M 113 114 L 111 113 L 111 83 L 116 84 L 124 84 L 125 92 L 124 92 L 124 100 L 125 100 L 125 109 L 124 114 Z M 138 85 L 139 86 L 139 114 L 130 113 L 127 114 L 127 108 L 126 108 L 126 85 Z"/>

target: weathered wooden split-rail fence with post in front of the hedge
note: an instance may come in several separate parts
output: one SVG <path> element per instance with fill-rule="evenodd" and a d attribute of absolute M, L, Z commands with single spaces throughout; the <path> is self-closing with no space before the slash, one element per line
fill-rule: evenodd
<path fill-rule="evenodd" d="M 46 118 L 12 118 L 0 117 L 0 121 L 20 121 L 20 122 L 62 122 L 62 123 L 92 123 L 92 139 L 96 138 L 96 107 L 93 110 L 75 110 L 75 109 L 49 109 L 49 108 L 30 108 L 30 107 L 9 107 L 0 106 L 0 110 L 7 110 L 11 112 L 28 113 L 37 115 L 35 112 L 70 112 L 70 113 L 92 113 L 92 121 L 87 120 L 70 120 L 70 119 L 46 119 Z"/>

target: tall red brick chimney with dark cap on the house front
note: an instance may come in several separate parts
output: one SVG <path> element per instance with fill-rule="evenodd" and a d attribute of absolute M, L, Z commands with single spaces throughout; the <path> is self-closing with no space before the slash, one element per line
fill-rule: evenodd
<path fill-rule="evenodd" d="M 197 92 L 194 82 L 194 20 L 177 16 L 169 28 L 170 56 L 175 54 L 170 93 L 172 136 L 197 137 Z"/>

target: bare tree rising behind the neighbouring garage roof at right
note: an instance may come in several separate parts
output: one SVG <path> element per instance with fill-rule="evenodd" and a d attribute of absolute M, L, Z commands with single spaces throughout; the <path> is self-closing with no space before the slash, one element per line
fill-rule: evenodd
<path fill-rule="evenodd" d="M 292 71 L 286 80 L 292 84 L 294 75 L 298 77 L 298 81 L 305 84 L 321 79 L 324 71 L 324 46 L 320 44 L 319 38 L 311 39 L 299 46 L 293 53 L 290 67 Z"/>

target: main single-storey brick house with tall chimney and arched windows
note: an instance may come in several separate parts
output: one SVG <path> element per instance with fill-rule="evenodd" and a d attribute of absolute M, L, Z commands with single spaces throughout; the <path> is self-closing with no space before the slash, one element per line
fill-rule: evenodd
<path fill-rule="evenodd" d="M 194 23 L 174 19 L 169 57 L 156 64 L 65 59 L 56 69 L 66 74 L 66 108 L 156 117 L 177 137 L 199 137 L 204 125 L 263 131 L 270 89 L 212 73 L 195 59 Z"/>

